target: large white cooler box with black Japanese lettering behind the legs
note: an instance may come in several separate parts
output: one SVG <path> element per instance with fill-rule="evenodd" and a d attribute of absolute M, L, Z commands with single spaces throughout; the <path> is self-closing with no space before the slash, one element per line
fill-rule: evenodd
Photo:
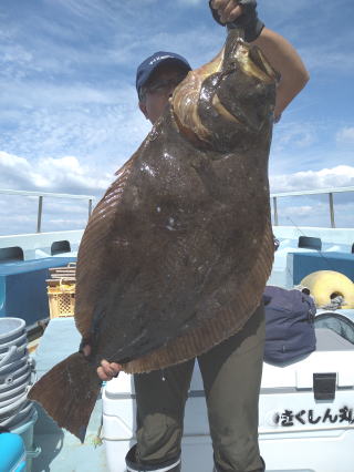
<path fill-rule="evenodd" d="M 316 329 L 317 349 L 288 366 L 264 362 L 259 437 L 268 472 L 354 471 L 354 346 Z M 125 472 L 135 443 L 133 378 L 119 374 L 103 392 L 103 434 L 111 472 Z M 211 472 L 202 381 L 198 365 L 189 391 L 183 472 Z"/>

